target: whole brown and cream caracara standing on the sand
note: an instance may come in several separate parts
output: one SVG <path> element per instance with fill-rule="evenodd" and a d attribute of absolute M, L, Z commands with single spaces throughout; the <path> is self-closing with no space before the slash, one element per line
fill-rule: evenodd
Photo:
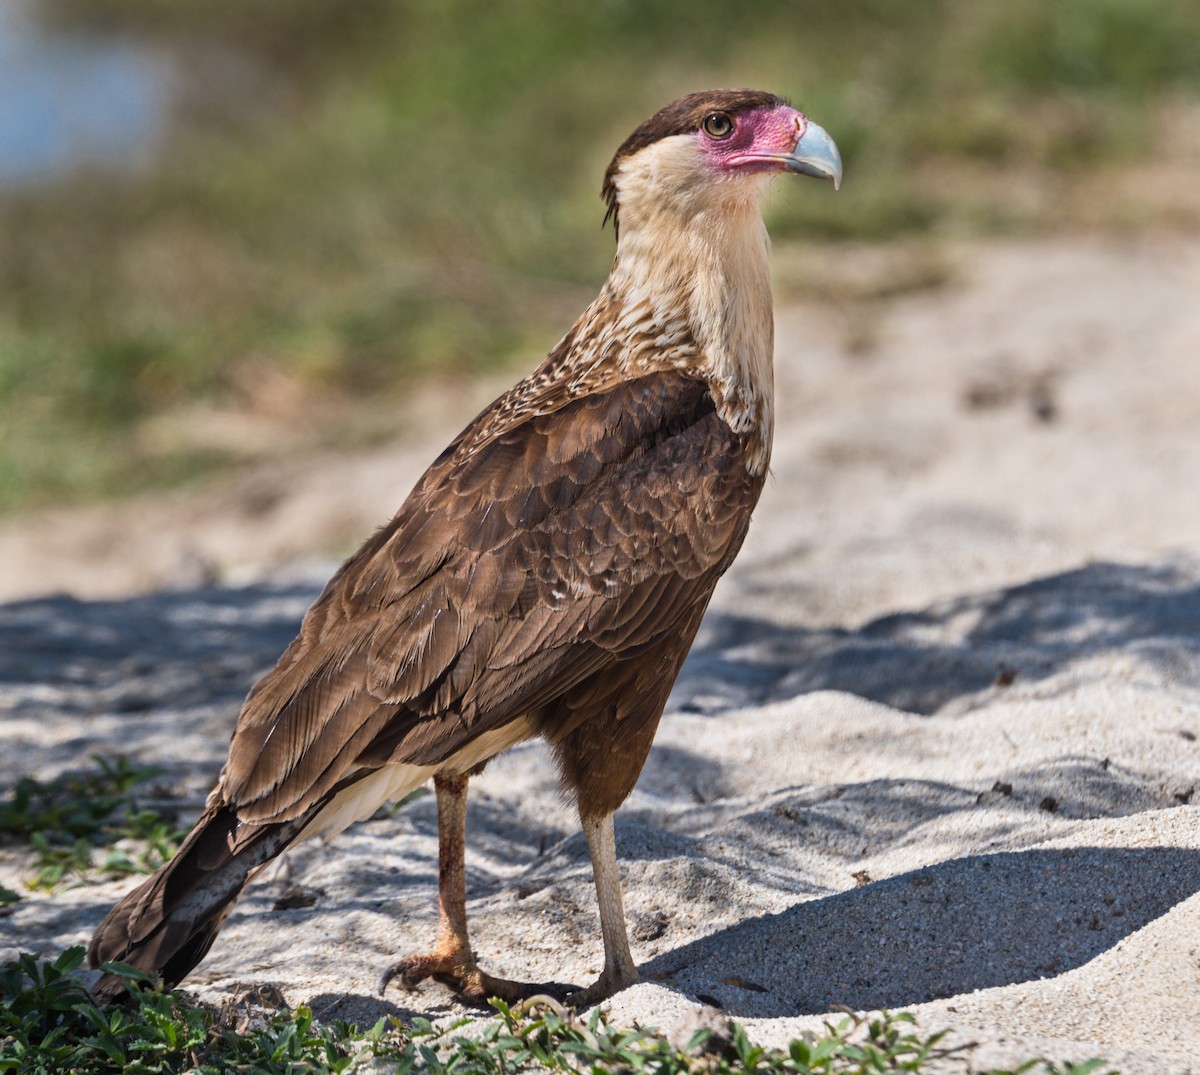
<path fill-rule="evenodd" d="M 109 911 L 89 961 L 179 984 L 251 877 L 433 781 L 438 925 L 380 990 L 427 979 L 476 1004 L 542 990 L 470 944 L 468 782 L 542 739 L 587 840 L 604 967 L 631 985 L 613 812 L 632 791 L 713 588 L 767 476 L 774 322 L 761 212 L 780 173 L 841 180 L 833 139 L 761 90 L 688 94 L 604 175 L 616 253 L 596 299 L 485 408 L 334 575 L 250 690 L 175 855 Z M 119 972 L 92 987 L 124 991 Z"/>

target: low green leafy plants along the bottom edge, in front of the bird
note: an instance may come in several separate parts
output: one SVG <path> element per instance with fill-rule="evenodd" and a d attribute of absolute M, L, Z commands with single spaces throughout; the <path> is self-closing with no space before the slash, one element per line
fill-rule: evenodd
<path fill-rule="evenodd" d="M 307 1008 L 264 1009 L 262 998 L 254 997 L 205 1008 L 179 993 L 161 992 L 140 972 L 120 963 L 106 969 L 128 983 L 132 999 L 128 1005 L 100 1008 L 72 975 L 82 961 L 83 949 L 72 948 L 53 962 L 22 955 L 0 972 L 0 1071 L 882 1075 L 919 1073 L 928 1061 L 954 1055 L 938 1044 L 944 1032 L 926 1035 L 911 1015 L 889 1013 L 871 1020 L 844 1019 L 828 1025 L 823 1034 L 794 1039 L 787 1050 L 755 1045 L 737 1023 L 727 1040 L 701 1029 L 677 1049 L 658 1031 L 618 1029 L 599 1009 L 582 1021 L 557 1004 L 520 1013 L 497 1002 L 498 1017 L 486 1023 L 467 1020 L 434 1027 L 416 1019 L 403 1026 L 382 1019 L 362 1032 L 344 1022 L 320 1026 Z M 968 1070 L 966 1061 L 960 1070 Z M 1062 1067 L 1030 1061 L 1018 1069 L 1042 1075 L 1102 1070 L 1106 1070 L 1103 1061 Z"/>

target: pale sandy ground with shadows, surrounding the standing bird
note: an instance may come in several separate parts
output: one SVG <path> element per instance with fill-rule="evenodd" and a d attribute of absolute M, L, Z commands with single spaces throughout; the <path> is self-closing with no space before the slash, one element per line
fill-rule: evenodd
<path fill-rule="evenodd" d="M 618 815 L 643 981 L 608 1008 L 670 1027 L 716 1004 L 772 1043 L 835 1004 L 906 1008 L 976 1068 L 1200 1071 L 1200 244 L 944 257 L 942 288 L 780 311 L 774 479 Z M 0 781 L 125 751 L 203 797 L 331 569 L 299 558 L 367 533 L 480 402 L 355 458 L 7 524 Z M 481 960 L 590 980 L 590 871 L 545 751 L 473 787 Z M 0 849 L 0 883 L 26 873 Z M 31 894 L 0 948 L 83 942 L 124 888 Z M 432 939 L 434 888 L 426 798 L 294 851 L 190 984 L 454 1013 L 374 989 Z M 276 909 L 288 889 L 311 906 Z"/>

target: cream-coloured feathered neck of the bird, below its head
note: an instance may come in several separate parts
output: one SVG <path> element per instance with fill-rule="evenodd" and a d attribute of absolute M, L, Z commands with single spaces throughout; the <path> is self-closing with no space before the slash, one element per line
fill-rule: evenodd
<path fill-rule="evenodd" d="M 626 311 L 640 311 L 665 338 L 691 343 L 685 366 L 709 382 L 721 418 L 734 431 L 761 439 L 758 462 L 766 468 L 774 318 L 758 199 L 743 194 L 691 209 L 682 215 L 623 205 L 605 293 Z"/>

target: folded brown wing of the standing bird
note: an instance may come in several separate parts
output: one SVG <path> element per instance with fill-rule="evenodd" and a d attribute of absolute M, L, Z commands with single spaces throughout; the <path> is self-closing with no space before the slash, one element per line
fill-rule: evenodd
<path fill-rule="evenodd" d="M 436 764 L 707 602 L 761 479 L 707 386 L 658 373 L 472 431 L 331 579 L 251 691 L 223 776 L 299 816 L 356 767 Z M 683 641 L 683 647 L 690 642 Z"/>

